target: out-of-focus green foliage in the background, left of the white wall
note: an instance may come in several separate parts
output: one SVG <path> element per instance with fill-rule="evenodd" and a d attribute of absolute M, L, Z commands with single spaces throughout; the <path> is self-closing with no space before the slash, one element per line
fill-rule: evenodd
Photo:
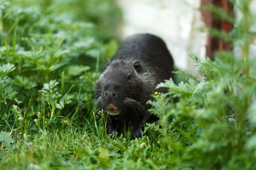
<path fill-rule="evenodd" d="M 64 17 L 69 22 L 92 23 L 94 34 L 106 42 L 116 37 L 122 16 L 114 0 L 11 0 L 11 2 L 24 7 L 36 7 L 42 13 Z"/>

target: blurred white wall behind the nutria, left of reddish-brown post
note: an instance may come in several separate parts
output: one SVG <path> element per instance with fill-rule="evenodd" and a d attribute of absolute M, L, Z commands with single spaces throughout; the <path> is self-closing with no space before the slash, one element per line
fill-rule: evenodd
<path fill-rule="evenodd" d="M 175 66 L 196 75 L 195 64 L 188 57 L 194 53 L 204 59 L 205 33 L 200 33 L 200 0 L 117 0 L 124 13 L 120 37 L 134 33 L 153 33 L 166 42 Z"/>

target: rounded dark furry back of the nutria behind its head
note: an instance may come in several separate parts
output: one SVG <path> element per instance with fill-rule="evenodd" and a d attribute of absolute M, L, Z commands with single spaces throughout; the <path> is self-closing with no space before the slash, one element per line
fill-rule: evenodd
<path fill-rule="evenodd" d="M 135 34 L 124 39 L 117 51 L 115 59 L 137 60 L 156 71 L 159 81 L 174 79 L 173 58 L 168 51 L 165 42 L 152 34 Z M 154 72 L 150 70 L 151 72 Z M 149 71 L 149 70 L 146 70 Z"/>

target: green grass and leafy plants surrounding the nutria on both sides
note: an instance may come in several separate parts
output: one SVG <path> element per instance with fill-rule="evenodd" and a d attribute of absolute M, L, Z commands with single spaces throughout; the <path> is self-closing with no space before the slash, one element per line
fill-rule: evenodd
<path fill-rule="evenodd" d="M 256 59 L 249 50 L 255 34 L 249 0 L 234 3 L 243 20 L 228 13 L 220 18 L 236 25 L 225 40 L 241 53 L 219 51 L 214 62 L 190 54 L 203 80 L 177 71 L 186 81 L 159 84 L 168 93 L 155 93 L 149 101 L 159 121 L 146 124 L 142 137 L 134 140 L 127 140 L 129 131 L 111 138 L 93 103 L 95 82 L 118 47 L 109 39 L 115 30 L 102 41 L 97 29 L 99 18 L 114 12 L 112 7 L 99 10 L 107 1 L 96 11 L 96 3 L 89 7 L 89 1 L 80 0 L 74 8 L 58 1 L 40 1 L 39 6 L 12 2 L 17 3 L 0 2 L 1 170 L 256 167 Z M 14 6 L 26 2 L 32 8 Z M 90 8 L 85 19 L 76 7 Z"/>

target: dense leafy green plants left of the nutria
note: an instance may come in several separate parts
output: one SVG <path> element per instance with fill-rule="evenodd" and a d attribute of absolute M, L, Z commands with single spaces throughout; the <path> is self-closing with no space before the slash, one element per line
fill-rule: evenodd
<path fill-rule="evenodd" d="M 63 117 L 92 117 L 94 82 L 117 46 L 97 40 L 94 29 L 0 2 L 0 130 L 43 132 Z"/>

